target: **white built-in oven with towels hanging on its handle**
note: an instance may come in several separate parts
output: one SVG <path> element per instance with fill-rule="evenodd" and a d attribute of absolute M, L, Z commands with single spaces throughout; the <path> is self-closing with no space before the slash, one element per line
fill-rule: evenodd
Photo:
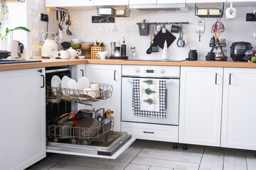
<path fill-rule="evenodd" d="M 165 118 L 134 114 L 134 79 L 164 80 Z M 178 125 L 180 67 L 124 65 L 122 67 L 122 122 Z"/>

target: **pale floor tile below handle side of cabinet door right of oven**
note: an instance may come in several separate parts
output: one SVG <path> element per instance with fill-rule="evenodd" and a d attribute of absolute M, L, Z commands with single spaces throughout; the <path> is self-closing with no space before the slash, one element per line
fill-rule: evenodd
<path fill-rule="evenodd" d="M 205 150 L 199 170 L 222 170 L 224 154 Z"/>

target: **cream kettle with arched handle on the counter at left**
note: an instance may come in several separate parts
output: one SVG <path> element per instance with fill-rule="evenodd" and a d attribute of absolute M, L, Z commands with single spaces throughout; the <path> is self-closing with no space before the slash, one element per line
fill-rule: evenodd
<path fill-rule="evenodd" d="M 57 41 L 57 35 L 55 33 L 51 33 L 52 35 L 55 35 L 55 40 L 52 40 L 50 38 L 45 39 L 44 35 L 51 32 L 46 32 L 43 34 L 43 45 L 41 47 L 41 56 L 42 58 L 49 58 L 48 52 L 49 51 L 58 51 L 58 41 Z"/>

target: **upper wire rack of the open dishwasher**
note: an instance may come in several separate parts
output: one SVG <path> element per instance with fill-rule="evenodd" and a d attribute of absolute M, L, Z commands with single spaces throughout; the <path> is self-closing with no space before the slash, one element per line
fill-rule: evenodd
<path fill-rule="evenodd" d="M 90 85 L 91 84 L 95 83 L 90 83 Z M 100 91 L 85 91 L 46 86 L 46 101 L 50 103 L 60 103 L 60 101 L 73 101 L 91 106 L 93 102 L 106 100 L 112 96 L 113 86 L 110 84 L 98 85 L 100 87 Z"/>

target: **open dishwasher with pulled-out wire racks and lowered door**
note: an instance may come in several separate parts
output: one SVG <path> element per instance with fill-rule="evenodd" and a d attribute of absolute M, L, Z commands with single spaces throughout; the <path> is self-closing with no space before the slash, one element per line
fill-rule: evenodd
<path fill-rule="evenodd" d="M 108 84 L 99 84 L 100 91 L 95 91 L 98 93 L 97 98 L 88 97 L 88 91 L 50 86 L 50 81 L 55 75 L 60 79 L 64 76 L 78 79 L 75 77 L 78 70 L 75 66 L 46 68 L 46 152 L 116 159 L 129 145 L 132 145 L 135 139 L 127 132 L 113 131 L 114 123 L 111 116 L 100 121 L 95 128 L 65 127 L 64 129 L 62 125 L 50 124 L 60 115 L 77 113 L 79 106 L 85 108 L 93 102 L 107 100 L 112 96 L 113 89 Z M 68 135 L 64 134 L 63 130 L 68 130 Z M 92 131 L 94 133 L 90 135 Z"/>

